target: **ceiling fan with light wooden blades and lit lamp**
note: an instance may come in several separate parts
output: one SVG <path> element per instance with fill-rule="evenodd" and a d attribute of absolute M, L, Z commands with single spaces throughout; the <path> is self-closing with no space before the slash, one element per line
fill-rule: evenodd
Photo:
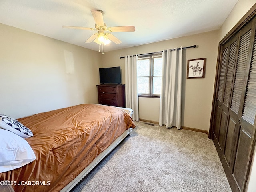
<path fill-rule="evenodd" d="M 65 26 L 63 28 L 71 28 L 71 29 L 83 29 L 83 30 L 91 30 L 91 31 L 98 31 L 97 33 L 90 36 L 85 42 L 90 43 L 94 41 L 95 43 L 103 46 L 113 41 L 116 44 L 120 44 L 118 38 L 112 35 L 109 32 L 132 32 L 135 31 L 134 26 L 118 26 L 118 27 L 107 27 L 107 25 L 103 21 L 103 14 L 104 12 L 101 10 L 91 10 L 92 16 L 95 20 L 95 28 L 90 27 L 76 27 L 76 26 Z"/>

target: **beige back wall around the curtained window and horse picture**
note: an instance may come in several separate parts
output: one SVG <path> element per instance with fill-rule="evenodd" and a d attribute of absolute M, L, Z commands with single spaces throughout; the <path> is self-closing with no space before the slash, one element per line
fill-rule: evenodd
<path fill-rule="evenodd" d="M 167 48 L 196 44 L 198 48 L 189 48 L 183 51 L 182 126 L 208 131 L 218 52 L 217 38 L 218 31 L 212 31 L 106 52 L 103 56 L 103 66 L 121 66 L 122 81 L 125 84 L 125 60 L 124 58 L 120 59 L 120 56 L 158 52 Z M 207 58 L 204 79 L 186 79 L 187 60 L 195 58 Z M 140 118 L 159 122 L 159 103 L 160 100 L 158 98 L 139 98 Z"/>

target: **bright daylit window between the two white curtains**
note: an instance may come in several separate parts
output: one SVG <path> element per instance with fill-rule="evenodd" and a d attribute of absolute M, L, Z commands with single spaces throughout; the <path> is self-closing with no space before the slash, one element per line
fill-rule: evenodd
<path fill-rule="evenodd" d="M 139 96 L 160 96 L 162 84 L 162 55 L 138 58 L 137 74 Z"/>

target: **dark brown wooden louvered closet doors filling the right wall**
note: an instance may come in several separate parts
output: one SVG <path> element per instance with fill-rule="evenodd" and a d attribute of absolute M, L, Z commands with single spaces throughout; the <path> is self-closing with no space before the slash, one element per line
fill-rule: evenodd
<path fill-rule="evenodd" d="M 234 192 L 246 190 L 256 129 L 256 5 L 220 43 L 211 117 L 212 138 Z"/>

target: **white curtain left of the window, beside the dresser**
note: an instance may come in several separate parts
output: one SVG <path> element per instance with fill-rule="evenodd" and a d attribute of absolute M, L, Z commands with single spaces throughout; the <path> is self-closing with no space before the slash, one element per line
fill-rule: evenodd
<path fill-rule="evenodd" d="M 132 119 L 134 121 L 139 121 L 137 59 L 137 54 L 125 56 L 125 106 L 133 110 Z"/>

